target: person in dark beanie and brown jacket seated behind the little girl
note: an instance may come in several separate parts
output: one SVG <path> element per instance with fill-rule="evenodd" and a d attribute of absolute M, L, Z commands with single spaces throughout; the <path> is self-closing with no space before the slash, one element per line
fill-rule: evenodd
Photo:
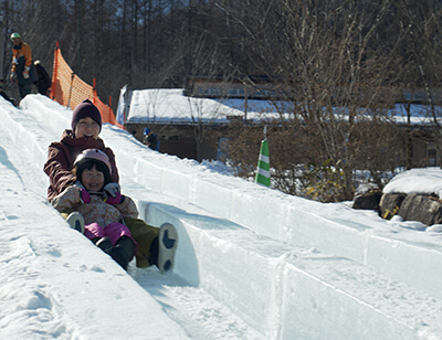
<path fill-rule="evenodd" d="M 115 198 L 120 192 L 119 176 L 114 152 L 98 137 L 102 130 L 102 116 L 98 108 L 88 99 L 78 104 L 72 114 L 71 128 L 63 132 L 60 141 L 49 146 L 48 160 L 44 163 L 44 172 L 50 179 L 49 202 L 75 183 L 76 178 L 71 171 L 76 157 L 86 149 L 98 149 L 109 158 L 110 182 L 103 189 L 108 196 Z M 129 216 L 125 219 L 125 222 L 138 244 L 135 255 L 137 267 L 155 264 L 161 273 L 171 269 L 178 241 L 175 227 L 158 229 L 146 224 L 140 219 Z"/>

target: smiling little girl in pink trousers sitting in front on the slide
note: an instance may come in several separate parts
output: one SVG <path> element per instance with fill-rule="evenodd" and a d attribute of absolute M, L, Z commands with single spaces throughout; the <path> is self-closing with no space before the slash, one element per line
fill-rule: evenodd
<path fill-rule="evenodd" d="M 77 181 L 52 200 L 52 205 L 69 214 L 66 221 L 73 229 L 90 238 L 97 247 L 115 259 L 125 270 L 134 258 L 136 242 L 125 217 L 136 219 L 134 201 L 119 192 L 115 198 L 103 190 L 110 182 L 109 158 L 98 149 L 84 150 L 76 158 L 73 173 Z"/>

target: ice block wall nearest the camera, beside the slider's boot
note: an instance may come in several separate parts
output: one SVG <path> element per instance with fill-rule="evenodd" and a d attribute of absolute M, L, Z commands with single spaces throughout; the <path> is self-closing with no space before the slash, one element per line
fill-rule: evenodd
<path fill-rule="evenodd" d="M 178 227 L 175 272 L 223 301 L 266 339 L 419 339 L 442 333 L 440 299 L 357 262 L 284 246 L 194 211 L 143 201 L 139 209 L 149 224 Z"/>

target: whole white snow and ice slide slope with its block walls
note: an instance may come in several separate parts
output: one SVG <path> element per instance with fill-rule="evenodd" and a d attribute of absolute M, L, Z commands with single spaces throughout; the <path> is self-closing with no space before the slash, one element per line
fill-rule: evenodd
<path fill-rule="evenodd" d="M 45 200 L 71 115 L 0 99 L 1 339 L 442 339 L 438 226 L 285 195 L 104 125 L 123 192 L 179 232 L 173 273 L 125 273 Z"/>

